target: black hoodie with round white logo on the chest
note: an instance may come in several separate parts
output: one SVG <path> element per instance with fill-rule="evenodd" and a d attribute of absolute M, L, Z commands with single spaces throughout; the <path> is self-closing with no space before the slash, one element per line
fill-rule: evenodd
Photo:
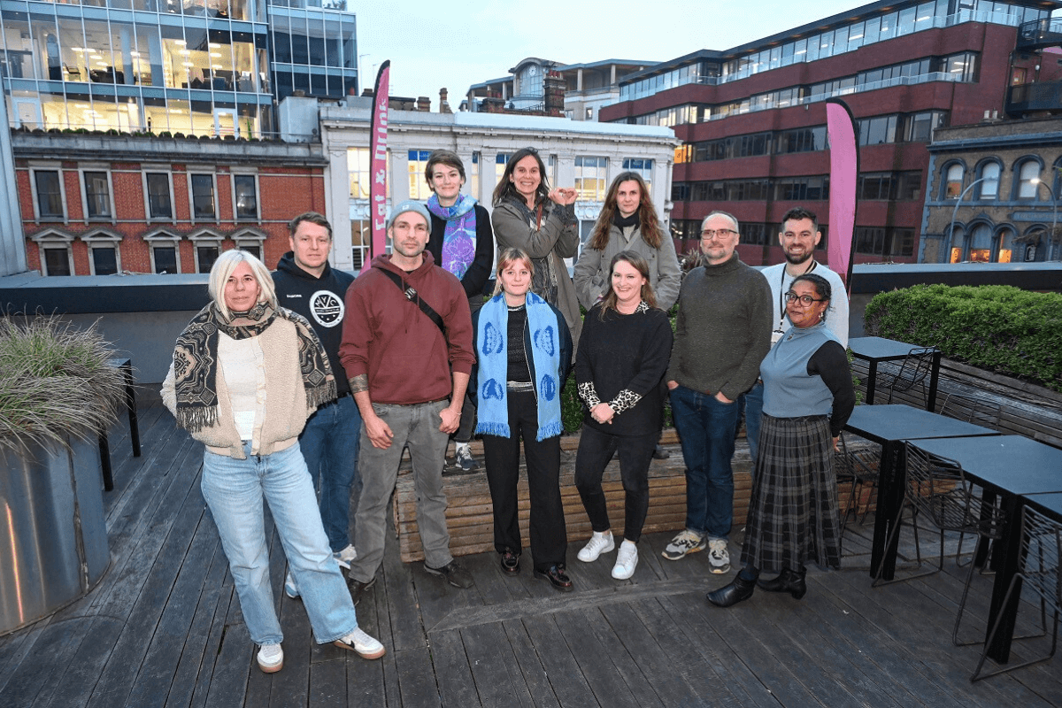
<path fill-rule="evenodd" d="M 350 384 L 339 358 L 339 345 L 343 340 L 343 315 L 346 306 L 346 289 L 354 282 L 354 276 L 333 269 L 325 262 L 325 270 L 318 278 L 295 263 L 292 252 L 286 253 L 273 272 L 273 283 L 280 307 L 297 312 L 313 326 L 321 344 L 328 355 L 332 374 L 336 376 L 336 393 L 340 396 L 350 393 Z"/>

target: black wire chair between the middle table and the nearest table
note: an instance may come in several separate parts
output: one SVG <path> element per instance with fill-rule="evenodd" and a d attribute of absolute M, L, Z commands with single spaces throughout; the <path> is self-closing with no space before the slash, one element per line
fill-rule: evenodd
<path fill-rule="evenodd" d="M 973 482 L 966 479 L 962 465 L 954 460 L 939 457 L 924 452 L 911 443 L 904 444 L 904 459 L 907 468 L 907 484 L 904 488 L 905 505 L 911 507 L 911 526 L 914 531 L 914 553 L 918 565 L 922 566 L 922 550 L 919 543 L 919 514 L 925 513 L 940 531 L 940 562 L 937 567 L 925 572 L 919 572 L 891 581 L 883 581 L 885 564 L 878 569 L 873 586 L 889 583 L 906 582 L 915 577 L 931 575 L 944 569 L 944 532 L 959 533 L 959 546 L 955 551 L 956 563 L 962 554 L 962 540 L 965 534 L 972 534 L 982 541 L 995 541 L 1003 537 L 1006 516 L 1003 510 L 994 503 L 984 502 L 977 494 Z M 904 506 L 896 514 L 892 531 L 889 534 L 891 546 L 900 533 Z M 967 564 L 966 580 L 959 600 L 959 612 L 952 629 L 952 641 L 956 645 L 977 643 L 975 641 L 959 641 L 959 625 L 970 594 L 970 584 L 974 576 L 974 564 Z"/>

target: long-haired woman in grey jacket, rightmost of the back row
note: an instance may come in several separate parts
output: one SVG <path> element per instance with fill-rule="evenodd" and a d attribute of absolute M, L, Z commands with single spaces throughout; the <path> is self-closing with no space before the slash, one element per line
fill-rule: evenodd
<path fill-rule="evenodd" d="M 601 215 L 576 263 L 576 293 L 587 310 L 609 294 L 609 264 L 621 251 L 646 259 L 657 305 L 665 312 L 670 310 L 679 299 L 682 271 L 674 242 L 661 226 L 649 189 L 636 172 L 613 179 Z"/>

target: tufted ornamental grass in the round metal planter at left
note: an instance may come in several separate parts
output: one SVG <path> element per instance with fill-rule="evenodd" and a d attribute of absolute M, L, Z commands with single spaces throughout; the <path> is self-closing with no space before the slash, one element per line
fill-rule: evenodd
<path fill-rule="evenodd" d="M 0 317 L 0 446 L 89 441 L 117 418 L 122 372 L 97 331 L 56 315 Z"/>

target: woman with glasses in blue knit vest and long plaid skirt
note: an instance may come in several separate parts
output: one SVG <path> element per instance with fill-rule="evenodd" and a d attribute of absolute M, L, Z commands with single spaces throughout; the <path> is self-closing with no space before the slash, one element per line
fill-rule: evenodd
<path fill-rule="evenodd" d="M 748 600 L 756 586 L 800 600 L 807 591 L 805 564 L 840 566 L 833 453 L 856 396 L 844 347 L 825 325 L 832 296 L 829 282 L 813 273 L 796 276 L 785 295 L 792 327 L 759 366 L 764 416 L 744 567 L 733 583 L 708 593 L 714 605 Z M 758 581 L 761 570 L 778 575 Z"/>

